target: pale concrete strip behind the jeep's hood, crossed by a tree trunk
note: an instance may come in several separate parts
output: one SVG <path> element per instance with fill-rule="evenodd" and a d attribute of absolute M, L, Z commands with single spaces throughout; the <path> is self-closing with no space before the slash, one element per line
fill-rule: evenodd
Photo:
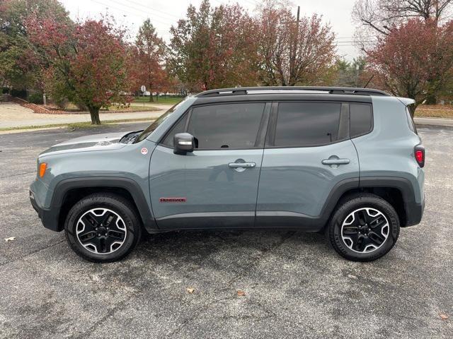
<path fill-rule="evenodd" d="M 164 113 L 171 105 L 153 105 L 159 108 L 152 112 L 121 112 L 109 113 L 100 112 L 102 121 L 125 120 L 125 119 L 144 119 L 154 120 Z M 144 108 L 146 109 L 146 107 Z M 50 124 L 72 124 L 76 122 L 91 121 L 90 114 L 38 114 L 31 109 L 21 105 L 2 102 L 0 103 L 0 129 L 25 126 L 47 126 Z"/>

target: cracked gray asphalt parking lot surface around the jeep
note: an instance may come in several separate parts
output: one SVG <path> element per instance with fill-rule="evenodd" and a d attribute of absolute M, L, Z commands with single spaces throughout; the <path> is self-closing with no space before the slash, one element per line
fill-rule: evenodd
<path fill-rule="evenodd" d="M 119 263 L 83 261 L 28 186 L 38 153 L 89 133 L 0 135 L 0 338 L 453 338 L 453 129 L 419 128 L 423 222 L 372 263 L 281 230 L 169 232 Z"/>

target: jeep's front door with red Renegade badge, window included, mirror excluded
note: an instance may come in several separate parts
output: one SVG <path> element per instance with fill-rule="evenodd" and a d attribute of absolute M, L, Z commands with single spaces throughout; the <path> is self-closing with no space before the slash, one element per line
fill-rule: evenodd
<path fill-rule="evenodd" d="M 151 204 L 161 229 L 253 227 L 270 104 L 241 102 L 193 107 L 151 157 Z M 193 153 L 173 153 L 187 131 Z"/>

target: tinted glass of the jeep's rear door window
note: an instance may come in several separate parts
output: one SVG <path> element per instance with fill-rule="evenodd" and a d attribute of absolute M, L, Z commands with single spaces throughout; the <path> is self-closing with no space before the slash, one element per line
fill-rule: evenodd
<path fill-rule="evenodd" d="M 275 147 L 303 147 L 338 141 L 341 104 L 280 102 Z"/>

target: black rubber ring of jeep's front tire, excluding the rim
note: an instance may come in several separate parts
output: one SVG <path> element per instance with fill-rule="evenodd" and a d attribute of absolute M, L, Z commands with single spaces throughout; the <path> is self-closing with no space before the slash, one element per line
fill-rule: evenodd
<path fill-rule="evenodd" d="M 88 251 L 81 245 L 76 236 L 76 225 L 81 215 L 93 208 L 108 208 L 120 215 L 126 226 L 126 239 L 119 249 L 110 254 L 96 254 Z M 129 206 L 114 198 L 103 196 L 88 196 L 76 203 L 69 211 L 67 219 L 64 222 L 64 232 L 71 248 L 83 258 L 90 261 L 109 262 L 117 261 L 125 257 L 137 244 L 139 238 L 139 227 L 137 217 L 134 215 Z"/>

